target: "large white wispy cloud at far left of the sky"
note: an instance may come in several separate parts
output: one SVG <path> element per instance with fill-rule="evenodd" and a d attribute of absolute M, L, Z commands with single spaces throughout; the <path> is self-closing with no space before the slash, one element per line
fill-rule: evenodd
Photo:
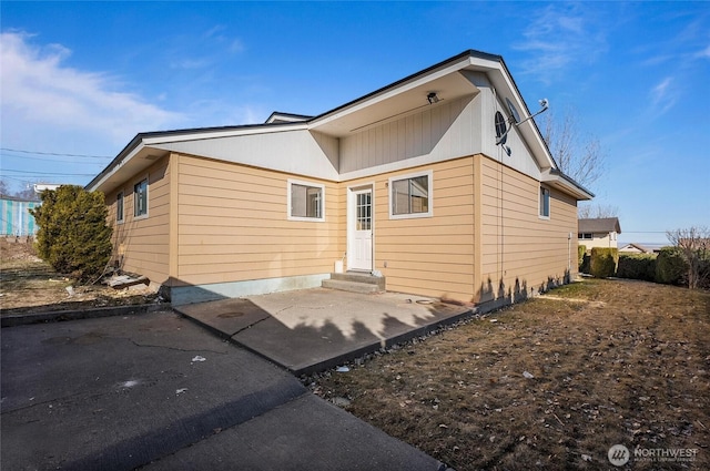
<path fill-rule="evenodd" d="M 58 130 L 124 143 L 140 131 L 173 127 L 184 120 L 141 96 L 122 91 L 101 72 L 65 65 L 71 51 L 60 44 L 36 45 L 19 31 L 0 34 L 3 140 L 13 131 Z"/>

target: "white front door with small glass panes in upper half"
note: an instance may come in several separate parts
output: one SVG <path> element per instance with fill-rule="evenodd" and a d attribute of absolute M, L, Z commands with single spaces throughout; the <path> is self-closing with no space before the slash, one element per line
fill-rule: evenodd
<path fill-rule="evenodd" d="M 373 269 L 373 191 L 351 191 L 348 198 L 347 268 Z"/>

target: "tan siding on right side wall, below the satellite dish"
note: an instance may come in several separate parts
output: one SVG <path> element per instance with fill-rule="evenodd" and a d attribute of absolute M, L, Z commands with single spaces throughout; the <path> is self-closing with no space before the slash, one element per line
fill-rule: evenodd
<path fill-rule="evenodd" d="M 498 298 L 500 291 L 514 295 L 516 286 L 530 295 L 549 281 L 560 283 L 570 262 L 574 275 L 576 201 L 550 188 L 550 217 L 540 218 L 540 183 L 494 160 L 480 158 L 481 300 Z"/>

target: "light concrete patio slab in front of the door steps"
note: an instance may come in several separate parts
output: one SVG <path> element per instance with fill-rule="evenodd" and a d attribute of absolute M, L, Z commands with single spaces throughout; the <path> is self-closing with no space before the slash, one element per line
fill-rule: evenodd
<path fill-rule="evenodd" d="M 422 296 L 326 288 L 183 305 L 174 310 L 294 375 L 333 368 L 474 314 L 470 307 Z"/>

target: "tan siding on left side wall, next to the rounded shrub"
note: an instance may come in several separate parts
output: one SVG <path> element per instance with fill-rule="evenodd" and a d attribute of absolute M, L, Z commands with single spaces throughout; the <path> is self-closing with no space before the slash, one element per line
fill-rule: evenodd
<path fill-rule="evenodd" d="M 106 195 L 109 221 L 113 225 L 113 259 L 121 269 L 146 276 L 151 283 L 169 280 L 170 160 L 163 157 L 148 172 L 134 175 Z M 133 216 L 133 185 L 148 177 L 148 217 Z M 123 223 L 116 224 L 116 195 L 123 191 Z"/>

